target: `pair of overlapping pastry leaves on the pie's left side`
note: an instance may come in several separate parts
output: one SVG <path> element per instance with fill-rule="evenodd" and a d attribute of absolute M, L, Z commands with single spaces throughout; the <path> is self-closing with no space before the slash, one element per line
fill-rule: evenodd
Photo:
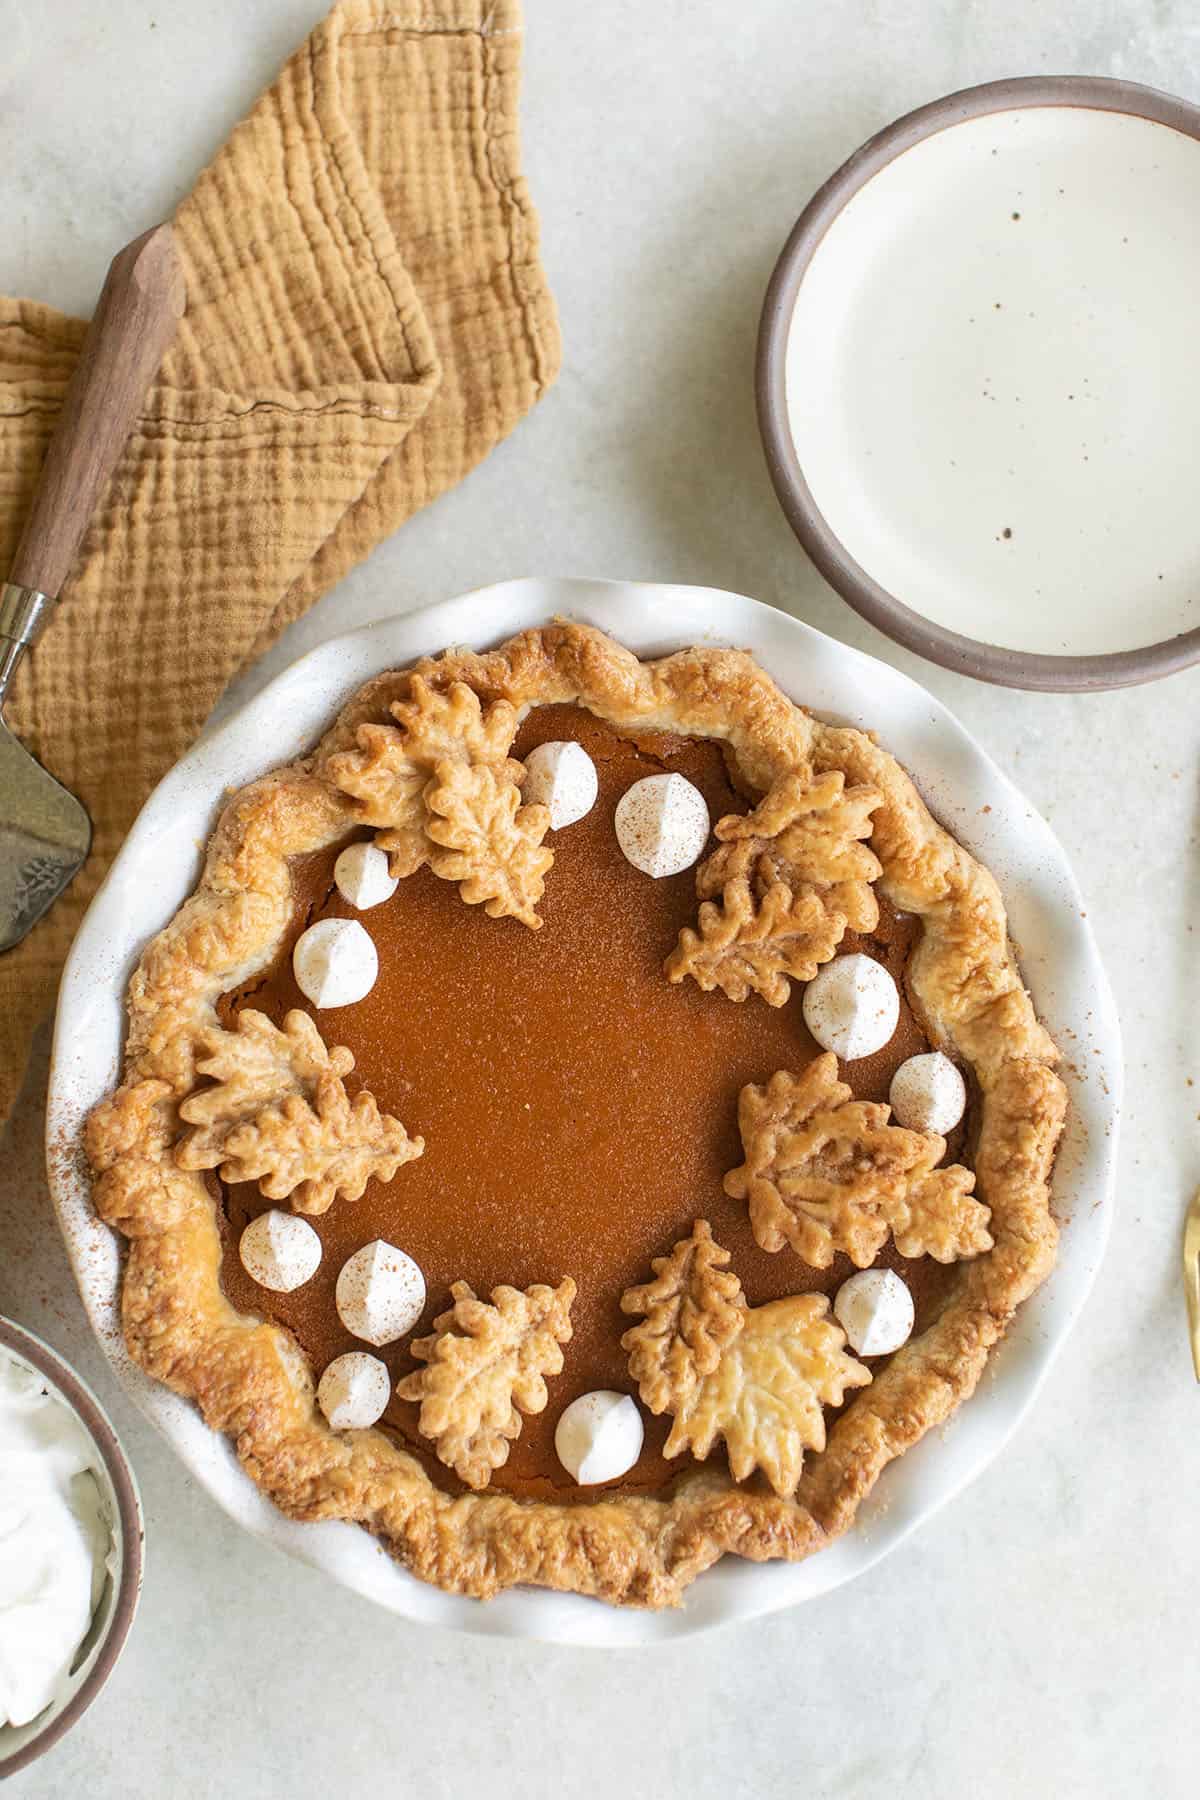
<path fill-rule="evenodd" d="M 180 1102 L 191 1130 L 175 1147 L 180 1168 L 218 1168 L 223 1181 L 257 1181 L 268 1201 L 297 1213 L 324 1213 L 340 1195 L 358 1201 L 367 1183 L 390 1181 L 425 1150 L 399 1120 L 380 1112 L 374 1094 L 354 1100 L 344 1076 L 349 1049 L 327 1049 L 302 1012 L 282 1030 L 246 1008 L 232 1031 L 200 1037 L 196 1073 L 207 1078 Z"/>

